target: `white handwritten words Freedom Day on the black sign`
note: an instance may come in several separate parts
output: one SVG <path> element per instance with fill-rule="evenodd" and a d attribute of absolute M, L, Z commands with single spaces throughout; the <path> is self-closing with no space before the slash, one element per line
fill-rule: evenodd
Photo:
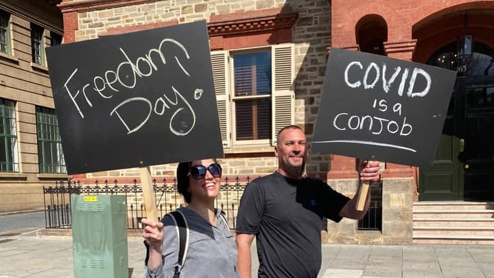
<path fill-rule="evenodd" d="M 125 61 L 121 62 L 117 66 L 116 70 L 107 70 L 105 71 L 104 76 L 95 76 L 93 78 L 93 82 L 84 84 L 84 86 L 82 86 L 82 90 L 77 89 L 77 91 L 73 90 L 73 88 L 71 88 L 70 86 L 71 81 L 76 78 L 76 73 L 78 72 L 78 68 L 75 68 L 69 78 L 67 78 L 67 81 L 64 82 L 63 87 L 64 90 L 67 91 L 67 94 L 72 100 L 80 117 L 84 119 L 84 112 L 80 104 L 76 101 L 78 96 L 80 96 L 80 93 L 82 93 L 82 96 L 84 96 L 83 102 L 85 100 L 85 103 L 89 106 L 89 108 L 92 108 L 93 102 L 91 102 L 91 97 L 89 96 L 94 95 L 94 93 L 96 93 L 100 97 L 103 97 L 104 99 L 110 99 L 113 97 L 114 92 L 119 92 L 119 86 L 126 89 L 136 89 L 137 78 L 150 77 L 153 73 L 158 71 L 158 66 L 156 65 L 155 60 L 153 60 L 153 57 L 157 58 L 158 62 L 163 63 L 163 65 L 167 64 L 165 54 L 163 53 L 163 47 L 165 44 L 172 44 L 172 46 L 176 45 L 181 51 L 183 51 L 187 59 L 190 58 L 187 49 L 185 49 L 185 47 L 181 43 L 172 38 L 165 38 L 161 40 L 158 48 L 150 49 L 148 51 L 148 54 L 145 54 L 145 56 L 140 56 L 135 60 L 135 62 L 132 62 L 132 60 L 126 54 L 126 51 L 120 48 L 119 50 L 123 54 Z M 178 57 L 174 56 L 174 58 L 178 64 L 178 67 L 180 67 L 183 73 L 185 73 L 186 76 L 190 77 L 190 73 L 183 67 L 183 65 L 180 63 L 180 60 L 178 60 Z M 74 91 L 75 93 L 73 93 Z M 202 93 L 202 89 L 195 89 L 193 95 L 194 100 L 199 100 L 202 96 Z M 163 96 L 158 97 L 154 101 L 154 104 L 145 97 L 129 97 L 128 99 L 117 104 L 115 108 L 110 111 L 110 117 L 115 115 L 126 128 L 127 134 L 130 134 L 133 132 L 137 132 L 137 130 L 142 128 L 153 112 L 156 115 L 161 116 L 165 114 L 167 109 L 171 110 L 173 107 L 175 110 L 172 111 L 172 115 L 169 120 L 169 130 L 174 135 L 187 135 L 196 124 L 196 113 L 193 111 L 193 108 L 191 107 L 187 99 L 183 96 L 183 94 L 180 93 L 180 91 L 178 91 L 178 89 L 176 89 L 174 86 L 172 86 L 172 93 L 169 93 L 169 95 L 163 93 Z M 124 115 L 127 114 L 123 113 L 124 111 L 122 110 L 126 108 L 130 103 L 139 103 L 142 104 L 144 109 L 148 109 L 148 115 L 146 115 L 139 124 L 134 124 L 134 126 L 129 126 L 126 119 L 124 119 Z M 180 124 L 180 126 L 187 126 L 185 130 L 176 130 L 173 124 L 174 119 L 176 115 L 184 109 L 188 109 L 188 112 L 191 114 L 191 123 L 186 125 Z M 128 117 L 132 117 L 132 115 Z"/>

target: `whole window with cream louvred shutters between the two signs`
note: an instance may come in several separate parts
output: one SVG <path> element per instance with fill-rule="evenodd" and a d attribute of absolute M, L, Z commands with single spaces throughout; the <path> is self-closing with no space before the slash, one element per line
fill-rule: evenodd
<path fill-rule="evenodd" d="M 294 122 L 292 45 L 211 53 L 224 148 L 274 145 Z"/>

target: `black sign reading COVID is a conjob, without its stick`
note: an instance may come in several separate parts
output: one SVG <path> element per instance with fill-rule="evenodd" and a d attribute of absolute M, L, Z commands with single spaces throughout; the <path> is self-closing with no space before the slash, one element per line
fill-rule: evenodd
<path fill-rule="evenodd" d="M 331 49 L 311 150 L 432 165 L 455 71 Z"/>

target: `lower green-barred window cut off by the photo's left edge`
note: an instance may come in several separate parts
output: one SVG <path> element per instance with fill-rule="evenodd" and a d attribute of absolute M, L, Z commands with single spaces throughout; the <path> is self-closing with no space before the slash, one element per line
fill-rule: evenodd
<path fill-rule="evenodd" d="M 0 172 L 19 172 L 14 102 L 0 98 Z"/>

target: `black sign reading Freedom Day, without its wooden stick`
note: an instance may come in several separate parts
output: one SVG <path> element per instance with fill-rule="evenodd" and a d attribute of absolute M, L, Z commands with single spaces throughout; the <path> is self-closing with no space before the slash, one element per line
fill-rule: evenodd
<path fill-rule="evenodd" d="M 47 49 L 69 174 L 222 157 L 205 21 Z"/>

